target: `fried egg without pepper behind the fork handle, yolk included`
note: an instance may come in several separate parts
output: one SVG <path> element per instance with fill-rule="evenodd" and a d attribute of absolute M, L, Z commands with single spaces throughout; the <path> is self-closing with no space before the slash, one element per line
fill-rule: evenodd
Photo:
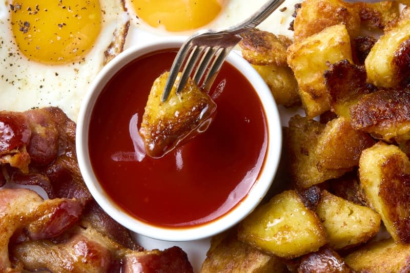
<path fill-rule="evenodd" d="M 230 27 L 247 19 L 267 0 L 126 0 L 132 26 L 155 35 L 190 35 L 204 28 Z M 258 28 L 293 36 L 289 24 L 297 0 L 287 0 Z"/>

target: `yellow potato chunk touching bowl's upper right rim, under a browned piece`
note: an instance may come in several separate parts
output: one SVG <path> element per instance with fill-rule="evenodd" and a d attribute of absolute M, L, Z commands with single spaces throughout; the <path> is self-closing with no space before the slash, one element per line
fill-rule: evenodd
<path fill-rule="evenodd" d="M 285 107 L 300 105 L 298 83 L 292 70 L 276 65 L 253 66 L 267 83 L 277 104 Z"/>

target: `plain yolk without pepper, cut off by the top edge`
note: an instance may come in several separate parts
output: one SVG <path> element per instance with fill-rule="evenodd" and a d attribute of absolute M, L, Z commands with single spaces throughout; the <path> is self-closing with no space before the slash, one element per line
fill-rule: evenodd
<path fill-rule="evenodd" d="M 221 11 L 218 0 L 131 0 L 139 18 L 152 27 L 168 31 L 197 29 Z"/>

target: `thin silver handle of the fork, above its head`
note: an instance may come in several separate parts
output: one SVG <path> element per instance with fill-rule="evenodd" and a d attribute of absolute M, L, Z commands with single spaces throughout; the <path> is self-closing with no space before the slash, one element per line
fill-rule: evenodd
<path fill-rule="evenodd" d="M 264 19 L 266 19 L 271 13 L 276 10 L 284 0 L 269 0 L 262 7 L 260 7 L 251 17 L 243 22 L 227 29 L 232 34 L 241 34 L 249 29 L 253 29 L 258 26 Z"/>

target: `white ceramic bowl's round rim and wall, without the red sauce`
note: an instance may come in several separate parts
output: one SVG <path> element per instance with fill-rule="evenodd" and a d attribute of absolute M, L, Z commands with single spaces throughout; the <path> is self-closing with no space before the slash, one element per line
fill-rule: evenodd
<path fill-rule="evenodd" d="M 88 131 L 94 104 L 112 76 L 130 61 L 150 52 L 162 49 L 179 48 L 184 37 L 167 37 L 143 46 L 132 47 L 111 60 L 95 77 L 81 104 L 78 116 L 76 147 L 81 174 L 97 203 L 118 223 L 128 229 L 154 239 L 165 241 L 191 241 L 213 236 L 232 227 L 250 214 L 269 190 L 275 176 L 282 146 L 282 133 L 278 110 L 266 83 L 247 61 L 235 52 L 231 52 L 227 61 L 236 67 L 257 91 L 265 111 L 268 123 L 269 142 L 267 155 L 257 181 L 246 196 L 227 214 L 199 226 L 166 228 L 139 221 L 125 213 L 101 188 L 90 163 Z M 160 160 L 160 159 L 159 159 Z"/>

